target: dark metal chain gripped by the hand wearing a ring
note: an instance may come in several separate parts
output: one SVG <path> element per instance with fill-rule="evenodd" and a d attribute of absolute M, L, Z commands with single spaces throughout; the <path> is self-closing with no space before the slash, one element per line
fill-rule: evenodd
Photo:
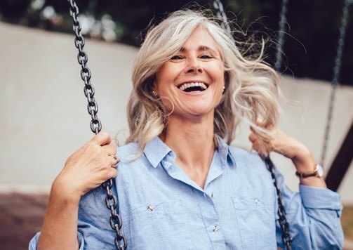
<path fill-rule="evenodd" d="M 95 102 L 94 98 L 94 88 L 91 84 L 91 70 L 88 69 L 86 66 L 86 63 L 88 61 L 87 53 L 84 51 L 84 37 L 81 34 L 81 24 L 78 20 L 78 15 L 79 15 L 79 8 L 76 5 L 76 2 L 74 0 L 67 0 L 69 2 L 69 11 L 70 15 L 72 18 L 72 29 L 74 30 L 75 33 L 75 46 L 79 50 L 79 53 L 77 54 L 77 60 L 79 61 L 79 64 L 81 65 L 81 79 L 84 81 L 84 94 L 87 98 L 88 105 L 87 105 L 87 110 L 88 114 L 91 115 L 91 131 L 95 134 L 98 134 L 101 129 L 102 129 L 102 124 L 100 122 L 100 119 L 98 119 L 97 112 L 98 112 L 98 104 Z M 107 197 L 105 198 L 105 205 L 107 206 L 107 209 L 109 209 L 111 216 L 109 218 L 109 224 L 112 227 L 112 229 L 115 231 L 115 240 L 114 244 L 116 246 L 116 249 L 119 250 L 125 250 L 127 249 L 127 241 L 126 237 L 121 233 L 121 218 L 119 216 L 119 213 L 116 213 L 116 207 L 118 206 L 118 201 L 115 197 L 115 195 L 112 192 L 112 187 L 113 187 L 113 180 L 110 178 L 107 180 L 105 183 L 102 183 L 102 188 L 105 189 L 107 192 Z M 122 245 L 119 245 L 119 242 L 122 241 Z"/>

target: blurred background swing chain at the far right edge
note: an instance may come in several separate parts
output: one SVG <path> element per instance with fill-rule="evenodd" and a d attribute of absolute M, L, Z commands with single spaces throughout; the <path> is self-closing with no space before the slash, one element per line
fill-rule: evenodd
<path fill-rule="evenodd" d="M 322 166 L 325 166 L 328 137 L 330 136 L 331 124 L 332 124 L 333 105 L 335 103 L 335 93 L 337 91 L 337 87 L 340 85 L 338 80 L 340 79 L 342 53 L 343 53 L 343 47 L 345 46 L 345 34 L 346 34 L 348 20 L 349 20 L 349 4 L 353 4 L 353 0 L 345 0 L 345 5 L 343 6 L 343 9 L 342 9 L 340 36 L 338 38 L 338 44 L 336 48 L 335 66 L 333 67 L 333 78 L 331 82 L 332 88 L 331 88 L 331 96 L 330 96 L 330 105 L 328 107 L 326 128 L 325 128 L 325 134 L 324 134 L 324 144 L 321 150 L 320 163 Z"/>

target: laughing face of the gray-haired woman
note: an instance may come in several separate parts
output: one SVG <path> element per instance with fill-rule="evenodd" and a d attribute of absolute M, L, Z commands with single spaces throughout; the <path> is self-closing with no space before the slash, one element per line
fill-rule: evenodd
<path fill-rule="evenodd" d="M 197 27 L 180 51 L 156 72 L 154 91 L 172 116 L 213 114 L 222 98 L 225 71 L 217 43 L 204 27 Z"/>

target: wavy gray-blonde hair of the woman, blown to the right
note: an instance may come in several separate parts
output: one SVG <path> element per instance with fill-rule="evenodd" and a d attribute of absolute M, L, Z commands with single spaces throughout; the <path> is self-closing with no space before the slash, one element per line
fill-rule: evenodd
<path fill-rule="evenodd" d="M 240 121 L 246 121 L 262 135 L 266 128 L 276 129 L 279 123 L 279 77 L 272 67 L 262 61 L 265 42 L 255 58 L 244 57 L 241 48 L 253 43 L 237 42 L 209 13 L 201 11 L 176 11 L 149 29 L 133 66 L 133 91 L 128 100 L 128 125 L 130 136 L 126 143 L 137 142 L 143 150 L 155 136 L 165 136 L 170 111 L 161 98 L 152 94 L 156 72 L 164 62 L 178 53 L 197 27 L 204 27 L 220 46 L 225 69 L 225 92 L 215 108 L 214 133 L 228 144 L 235 138 Z M 260 126 L 256 121 L 262 119 Z M 218 145 L 217 136 L 215 143 Z"/>

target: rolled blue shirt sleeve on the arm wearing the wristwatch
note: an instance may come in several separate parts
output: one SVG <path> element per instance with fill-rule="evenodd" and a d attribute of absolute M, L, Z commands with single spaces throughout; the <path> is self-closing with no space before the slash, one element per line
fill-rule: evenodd
<path fill-rule="evenodd" d="M 293 249 L 342 249 L 343 231 L 340 223 L 342 204 L 340 195 L 327 188 L 299 185 L 292 192 L 284 177 L 275 169 L 284 203 Z M 277 214 L 278 204 L 276 205 Z M 284 247 L 279 216 L 276 220 L 277 245 Z"/>

